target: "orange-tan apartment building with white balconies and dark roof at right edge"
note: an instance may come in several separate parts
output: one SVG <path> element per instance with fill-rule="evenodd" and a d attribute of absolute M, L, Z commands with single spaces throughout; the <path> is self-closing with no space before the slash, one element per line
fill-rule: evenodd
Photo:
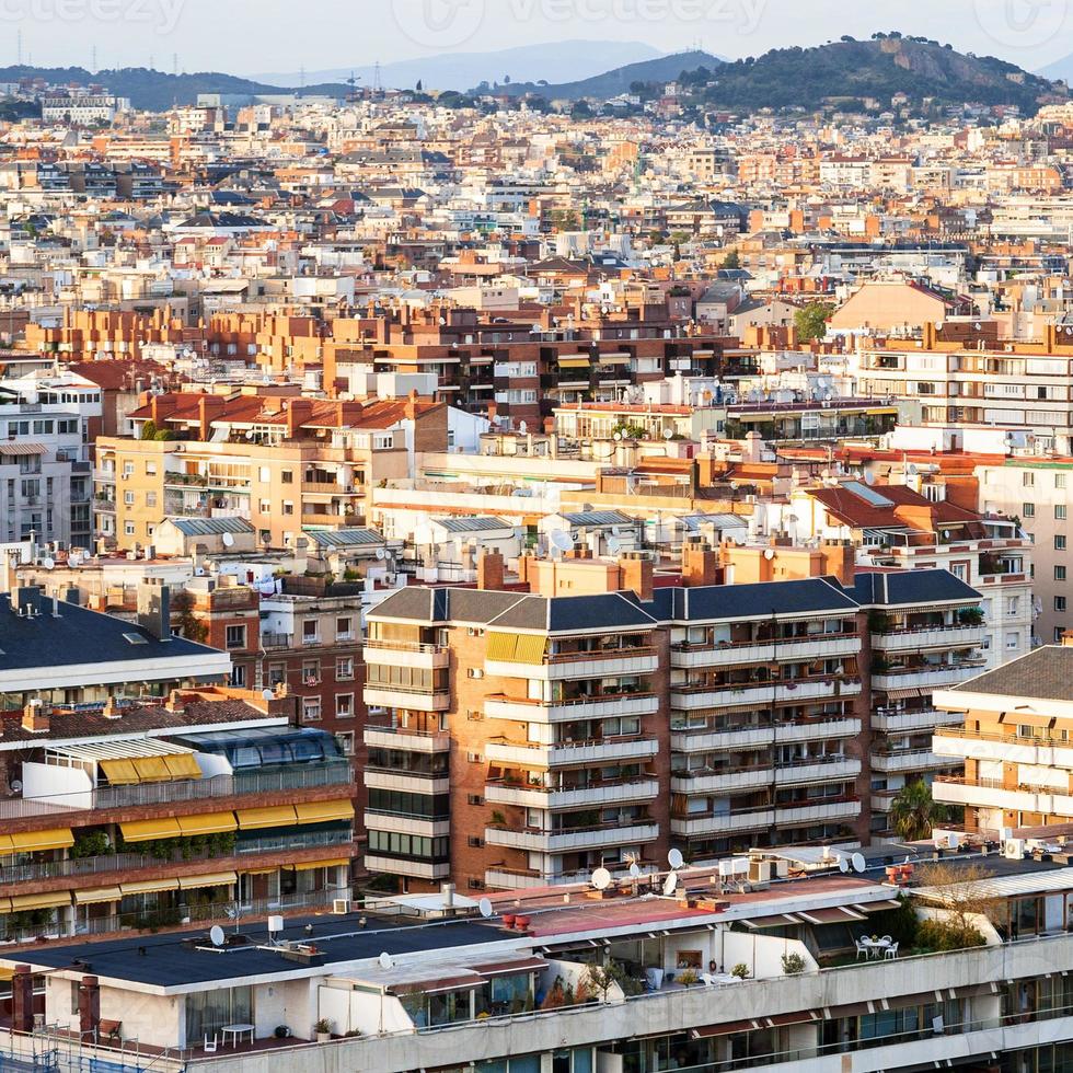
<path fill-rule="evenodd" d="M 935 731 L 933 749 L 965 764 L 943 776 L 936 800 L 965 808 L 966 830 L 1053 842 L 1073 822 L 1073 646 L 1048 645 L 935 694 L 957 722 Z"/>

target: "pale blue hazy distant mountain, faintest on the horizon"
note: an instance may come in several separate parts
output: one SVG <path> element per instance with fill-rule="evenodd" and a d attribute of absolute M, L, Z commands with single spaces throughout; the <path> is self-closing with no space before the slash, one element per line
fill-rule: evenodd
<path fill-rule="evenodd" d="M 554 48 L 546 44 L 523 45 L 492 53 L 445 53 L 417 59 L 396 60 L 380 68 L 382 85 L 412 90 L 419 81 L 426 90 L 464 92 L 478 82 L 501 82 L 509 76 L 515 82 L 544 79 L 561 82 L 566 79 L 589 78 L 613 67 L 656 59 L 662 54 L 641 42 L 563 41 Z M 349 68 L 307 71 L 307 82 L 346 82 Z M 372 85 L 377 77 L 370 66 L 355 68 L 353 73 L 361 85 Z M 269 85 L 299 85 L 298 72 L 249 76 Z"/>

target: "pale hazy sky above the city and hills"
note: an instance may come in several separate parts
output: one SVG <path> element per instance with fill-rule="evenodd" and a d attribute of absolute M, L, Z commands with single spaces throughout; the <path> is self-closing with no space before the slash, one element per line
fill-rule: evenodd
<path fill-rule="evenodd" d="M 1073 0 L 0 0 L 0 57 L 292 71 L 586 38 L 731 57 L 876 30 L 1028 69 L 1073 51 Z"/>

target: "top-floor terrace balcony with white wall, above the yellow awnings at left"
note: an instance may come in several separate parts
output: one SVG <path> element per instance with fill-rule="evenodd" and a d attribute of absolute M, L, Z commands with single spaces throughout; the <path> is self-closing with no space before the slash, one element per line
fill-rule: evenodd
<path fill-rule="evenodd" d="M 201 801 L 214 797 L 240 797 L 245 794 L 279 794 L 287 791 L 315 789 L 321 786 L 349 786 L 354 772 L 349 763 L 288 766 L 277 771 L 261 768 L 238 771 L 231 775 L 185 778 L 176 782 L 137 783 L 131 786 L 99 786 L 84 792 L 68 792 L 64 806 L 48 798 L 9 798 L 0 801 L 0 820 L 28 816 L 69 816 L 74 811 L 173 805 Z"/>

